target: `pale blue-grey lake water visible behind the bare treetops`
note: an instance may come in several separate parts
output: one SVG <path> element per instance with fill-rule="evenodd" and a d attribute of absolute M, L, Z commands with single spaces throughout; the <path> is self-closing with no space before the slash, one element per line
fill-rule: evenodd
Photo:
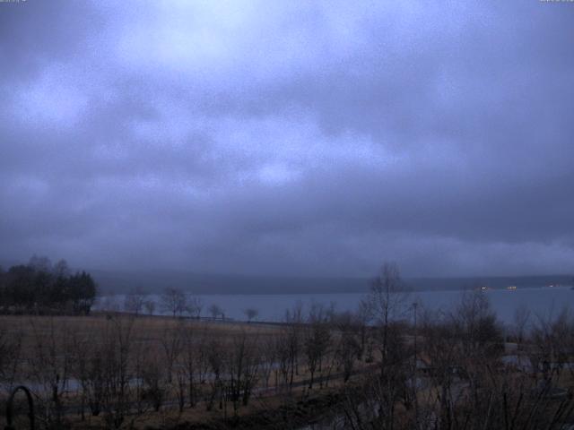
<path fill-rule="evenodd" d="M 464 291 L 415 291 L 409 294 L 407 303 L 418 302 L 425 308 L 448 311 L 460 302 Z M 500 321 L 511 323 L 518 308 L 528 309 L 533 316 L 552 316 L 559 314 L 564 307 L 574 304 L 574 290 L 570 287 L 554 288 L 518 288 L 517 290 L 487 290 L 481 292 L 489 298 L 493 310 L 498 314 Z M 281 321 L 286 309 L 300 303 L 303 312 L 309 310 L 314 303 L 323 305 L 335 305 L 335 310 L 354 311 L 365 294 L 357 293 L 334 293 L 334 294 L 274 294 L 274 295 L 199 295 L 203 304 L 202 316 L 208 316 L 211 305 L 222 308 L 226 318 L 245 320 L 243 311 L 247 308 L 257 309 L 258 321 Z M 150 296 L 156 303 L 157 314 L 160 297 Z M 100 309 L 114 302 L 123 304 L 123 296 L 107 297 L 100 301 Z"/>

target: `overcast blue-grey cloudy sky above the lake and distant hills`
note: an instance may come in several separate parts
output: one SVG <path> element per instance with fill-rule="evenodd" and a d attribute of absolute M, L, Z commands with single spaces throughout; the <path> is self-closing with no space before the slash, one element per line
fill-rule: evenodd
<path fill-rule="evenodd" d="M 574 271 L 574 3 L 0 3 L 0 261 Z"/>

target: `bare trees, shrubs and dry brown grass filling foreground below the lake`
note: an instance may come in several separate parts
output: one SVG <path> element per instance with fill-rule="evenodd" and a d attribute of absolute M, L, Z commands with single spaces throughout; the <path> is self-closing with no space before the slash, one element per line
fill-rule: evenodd
<path fill-rule="evenodd" d="M 315 305 L 282 324 L 119 313 L 0 324 L 3 399 L 27 384 L 42 428 L 296 428 L 320 417 L 324 428 L 529 430 L 573 419 L 571 314 L 519 313 L 505 340 L 482 293 L 426 312 L 393 265 L 353 314 Z"/>

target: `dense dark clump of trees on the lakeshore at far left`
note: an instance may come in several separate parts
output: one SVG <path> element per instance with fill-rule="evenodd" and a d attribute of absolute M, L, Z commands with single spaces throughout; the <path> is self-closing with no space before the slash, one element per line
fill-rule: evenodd
<path fill-rule="evenodd" d="M 3 314 L 90 314 L 97 285 L 90 273 L 70 271 L 65 260 L 52 264 L 33 256 L 28 264 L 0 267 Z"/>

